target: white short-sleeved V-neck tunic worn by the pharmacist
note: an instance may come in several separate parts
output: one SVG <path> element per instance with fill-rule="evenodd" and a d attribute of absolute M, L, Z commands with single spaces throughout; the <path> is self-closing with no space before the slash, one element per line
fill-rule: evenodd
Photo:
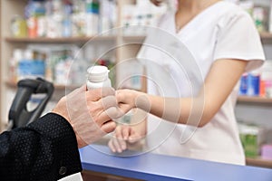
<path fill-rule="evenodd" d="M 237 5 L 223 1 L 211 5 L 179 33 L 175 32 L 174 20 L 175 12 L 165 14 L 159 24 L 161 31 L 151 30 L 138 54 L 147 66 L 148 92 L 151 94 L 193 97 L 199 92 L 213 62 L 246 60 L 245 71 L 251 71 L 265 60 L 251 17 Z M 233 90 L 215 117 L 198 129 L 150 115 L 147 150 L 244 165 L 244 151 L 234 114 L 236 99 L 237 91 Z"/>

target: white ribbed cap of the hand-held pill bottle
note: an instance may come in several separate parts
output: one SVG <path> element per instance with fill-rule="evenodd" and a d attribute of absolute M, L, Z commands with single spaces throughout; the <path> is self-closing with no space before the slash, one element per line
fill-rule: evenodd
<path fill-rule="evenodd" d="M 105 81 L 108 78 L 109 70 L 106 66 L 95 65 L 87 70 L 87 79 L 92 82 Z"/>

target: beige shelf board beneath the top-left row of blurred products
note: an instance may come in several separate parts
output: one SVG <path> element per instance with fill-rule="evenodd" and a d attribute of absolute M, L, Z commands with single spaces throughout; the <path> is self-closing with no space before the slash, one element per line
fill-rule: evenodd
<path fill-rule="evenodd" d="M 7 43 L 87 43 L 88 41 L 115 41 L 115 35 L 90 36 L 90 37 L 69 37 L 69 38 L 17 38 L 5 37 Z"/>

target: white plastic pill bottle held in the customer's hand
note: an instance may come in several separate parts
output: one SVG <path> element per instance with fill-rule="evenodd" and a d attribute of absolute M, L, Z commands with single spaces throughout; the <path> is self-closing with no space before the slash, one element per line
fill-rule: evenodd
<path fill-rule="evenodd" d="M 112 82 L 109 79 L 109 69 L 106 66 L 94 65 L 87 70 L 87 89 L 93 90 L 102 87 L 112 87 Z"/>

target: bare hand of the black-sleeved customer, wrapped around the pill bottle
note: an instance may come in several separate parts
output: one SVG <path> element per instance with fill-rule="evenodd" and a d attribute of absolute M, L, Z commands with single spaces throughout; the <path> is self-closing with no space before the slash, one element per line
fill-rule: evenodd
<path fill-rule="evenodd" d="M 86 85 L 64 96 L 53 109 L 67 119 L 75 132 L 78 148 L 112 132 L 120 112 L 112 88 L 86 90 Z"/>

